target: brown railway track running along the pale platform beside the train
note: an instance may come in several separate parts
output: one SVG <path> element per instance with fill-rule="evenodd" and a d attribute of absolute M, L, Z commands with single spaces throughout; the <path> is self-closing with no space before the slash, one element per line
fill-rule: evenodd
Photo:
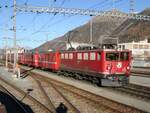
<path fill-rule="evenodd" d="M 71 85 L 65 84 L 63 82 L 57 81 L 57 80 L 53 80 L 51 78 L 48 77 L 44 77 L 41 76 L 39 74 L 35 74 L 35 73 L 30 73 L 30 76 L 36 76 L 36 79 L 38 79 L 38 81 L 42 81 L 44 83 L 50 84 L 55 86 L 55 88 L 57 88 L 57 90 L 59 92 L 61 92 L 62 95 L 65 96 L 65 98 L 67 98 L 67 100 L 69 102 L 72 102 L 72 105 L 76 105 L 77 107 L 77 112 L 83 112 L 83 108 L 81 108 L 81 106 L 83 106 L 83 102 L 84 103 L 88 103 L 90 106 L 94 106 L 95 111 L 98 110 L 98 112 L 108 112 L 108 113 L 127 113 L 127 112 L 134 112 L 134 113 L 142 113 L 143 111 L 137 110 L 133 107 L 127 106 L 127 105 L 123 105 L 121 103 L 117 103 L 115 101 L 106 99 L 104 97 L 100 97 L 98 95 L 95 95 L 93 93 L 89 93 L 85 90 L 82 89 L 78 89 L 76 87 L 73 87 Z M 44 84 L 42 83 L 42 84 Z M 73 98 L 76 99 L 73 99 Z M 76 101 L 74 101 L 76 100 Z M 82 104 L 81 104 L 82 102 Z M 84 109 L 85 109 L 85 104 L 84 104 Z M 69 108 L 69 107 L 68 107 Z M 86 107 L 87 108 L 87 107 Z M 94 110 L 93 109 L 93 110 Z"/>

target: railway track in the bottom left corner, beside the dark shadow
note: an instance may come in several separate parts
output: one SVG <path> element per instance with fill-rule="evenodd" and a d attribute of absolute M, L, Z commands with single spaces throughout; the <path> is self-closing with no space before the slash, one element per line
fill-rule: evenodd
<path fill-rule="evenodd" d="M 52 111 L 43 105 L 40 101 L 35 99 L 34 97 L 28 95 L 26 92 L 16 87 L 15 85 L 7 82 L 3 78 L 0 78 L 1 86 L 5 87 L 5 89 L 11 91 L 11 93 L 18 98 L 18 100 L 23 101 L 28 104 L 33 112 L 35 113 L 52 113 Z"/>

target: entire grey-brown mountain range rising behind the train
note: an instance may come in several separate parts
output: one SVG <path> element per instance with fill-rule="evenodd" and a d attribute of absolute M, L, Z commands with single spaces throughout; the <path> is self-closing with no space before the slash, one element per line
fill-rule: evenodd
<path fill-rule="evenodd" d="M 118 12 L 113 10 L 113 12 Z M 121 13 L 121 12 L 120 12 Z M 150 8 L 139 13 L 150 15 Z M 144 40 L 150 37 L 150 22 L 133 19 L 122 19 L 114 17 L 96 16 L 92 18 L 93 44 L 98 45 L 104 38 L 118 37 L 119 42 L 131 42 Z M 37 47 L 40 51 L 49 49 L 65 49 L 66 42 L 89 43 L 90 42 L 90 21 L 76 29 L 69 31 L 61 37 L 48 41 Z M 111 41 L 111 40 L 109 40 Z"/>

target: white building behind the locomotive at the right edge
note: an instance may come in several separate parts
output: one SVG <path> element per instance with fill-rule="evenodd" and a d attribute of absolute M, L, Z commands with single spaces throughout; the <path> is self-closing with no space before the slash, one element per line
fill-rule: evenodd
<path fill-rule="evenodd" d="M 119 49 L 132 51 L 133 66 L 150 67 L 150 42 L 148 39 L 139 42 L 118 44 Z"/>

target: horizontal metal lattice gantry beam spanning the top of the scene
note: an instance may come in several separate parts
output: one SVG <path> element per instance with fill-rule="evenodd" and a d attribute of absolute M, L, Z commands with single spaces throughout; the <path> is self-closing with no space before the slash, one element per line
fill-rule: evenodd
<path fill-rule="evenodd" d="M 74 15 L 105 16 L 105 17 L 117 17 L 117 18 L 128 18 L 128 19 L 150 21 L 150 16 L 138 14 L 126 14 L 114 11 L 97 11 L 89 9 L 38 7 L 38 6 L 17 6 L 16 9 L 17 11 L 33 12 L 33 13 L 54 13 L 54 14 L 60 13 L 60 14 L 74 14 Z"/>

